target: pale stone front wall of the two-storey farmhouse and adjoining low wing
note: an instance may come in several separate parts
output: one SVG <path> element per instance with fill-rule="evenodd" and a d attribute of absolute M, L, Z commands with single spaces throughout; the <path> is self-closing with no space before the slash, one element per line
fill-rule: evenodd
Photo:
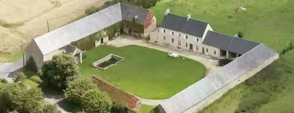
<path fill-rule="evenodd" d="M 211 27 L 207 26 L 205 34 L 210 29 Z M 164 30 L 165 30 L 165 33 L 164 33 Z M 179 34 L 181 34 L 181 36 L 179 36 Z M 158 43 L 157 43 L 158 45 L 169 44 L 171 47 L 176 48 L 178 47 L 178 41 L 180 40 L 181 48 L 184 50 L 190 50 L 190 44 L 193 44 L 193 52 L 202 53 L 202 47 L 204 47 L 204 53 L 208 53 L 208 55 L 216 57 L 216 58 L 219 58 L 220 56 L 218 48 L 202 44 L 202 39 L 203 39 L 202 37 L 200 38 L 196 36 L 191 36 L 189 34 L 184 34 L 181 32 L 176 32 L 170 29 L 164 29 L 160 27 L 158 30 L 151 32 L 149 42 L 154 43 L 156 41 L 156 36 L 158 37 Z M 166 37 L 166 40 L 163 39 L 164 36 Z M 186 36 L 188 36 L 188 39 L 186 38 Z M 174 40 L 173 42 L 172 42 L 172 39 Z M 187 43 L 187 47 L 186 47 L 186 43 Z M 197 46 L 198 46 L 198 49 L 197 49 Z M 206 52 L 206 48 L 208 48 L 208 52 Z M 214 54 L 214 51 L 216 51 L 216 54 Z"/>

